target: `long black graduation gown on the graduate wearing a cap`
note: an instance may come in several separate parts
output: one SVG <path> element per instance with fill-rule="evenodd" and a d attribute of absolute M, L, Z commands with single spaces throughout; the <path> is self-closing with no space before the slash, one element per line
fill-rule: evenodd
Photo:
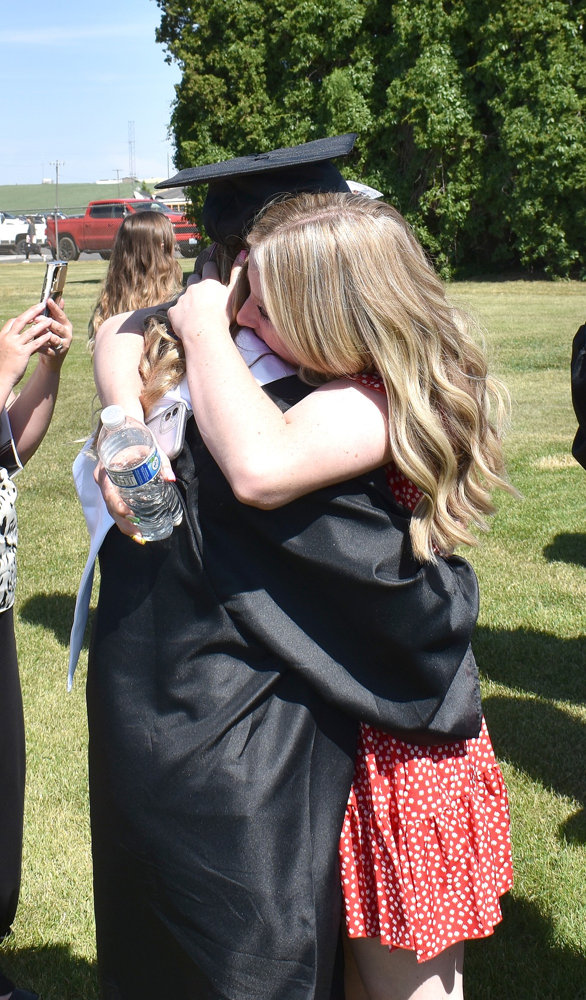
<path fill-rule="evenodd" d="M 307 387 L 273 384 L 286 408 Z M 419 566 L 384 474 L 239 503 L 195 422 L 171 538 L 115 528 L 90 647 L 102 997 L 342 998 L 357 719 L 477 735 L 476 580 Z M 462 693 L 467 692 L 463 697 Z M 472 694 L 470 694 L 472 692 Z"/>

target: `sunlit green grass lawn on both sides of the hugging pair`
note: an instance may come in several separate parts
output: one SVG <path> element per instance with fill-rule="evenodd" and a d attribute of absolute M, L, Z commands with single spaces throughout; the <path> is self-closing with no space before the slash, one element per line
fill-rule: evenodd
<path fill-rule="evenodd" d="M 191 269 L 188 261 L 183 262 Z M 82 654 L 65 691 L 67 644 L 87 541 L 70 468 L 91 427 L 87 321 L 106 265 L 70 264 L 76 340 L 53 424 L 17 479 L 17 642 L 28 746 L 22 898 L 0 958 L 43 1000 L 97 997 Z M 35 301 L 42 265 L 0 268 L 2 322 Z M 494 936 L 469 945 L 467 1000 L 586 998 L 586 473 L 571 459 L 568 364 L 586 316 L 577 283 L 466 282 L 452 294 L 483 325 L 513 397 L 510 477 L 472 553 L 480 579 L 475 650 L 508 783 L 515 888 Z"/>

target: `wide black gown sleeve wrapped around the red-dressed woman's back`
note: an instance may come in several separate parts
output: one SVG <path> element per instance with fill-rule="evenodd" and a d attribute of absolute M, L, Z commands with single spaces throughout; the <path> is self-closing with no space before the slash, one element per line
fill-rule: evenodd
<path fill-rule="evenodd" d="M 265 511 L 208 460 L 186 499 L 218 600 L 275 662 L 379 729 L 478 736 L 474 571 L 457 556 L 417 562 L 384 469 Z"/>

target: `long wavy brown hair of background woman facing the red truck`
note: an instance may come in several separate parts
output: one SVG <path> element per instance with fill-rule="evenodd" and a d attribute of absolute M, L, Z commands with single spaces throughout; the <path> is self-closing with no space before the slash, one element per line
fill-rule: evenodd
<path fill-rule="evenodd" d="M 183 272 L 175 259 L 175 232 L 162 212 L 127 215 L 114 241 L 100 297 L 88 327 L 93 353 L 97 331 L 110 316 L 177 297 Z"/>

